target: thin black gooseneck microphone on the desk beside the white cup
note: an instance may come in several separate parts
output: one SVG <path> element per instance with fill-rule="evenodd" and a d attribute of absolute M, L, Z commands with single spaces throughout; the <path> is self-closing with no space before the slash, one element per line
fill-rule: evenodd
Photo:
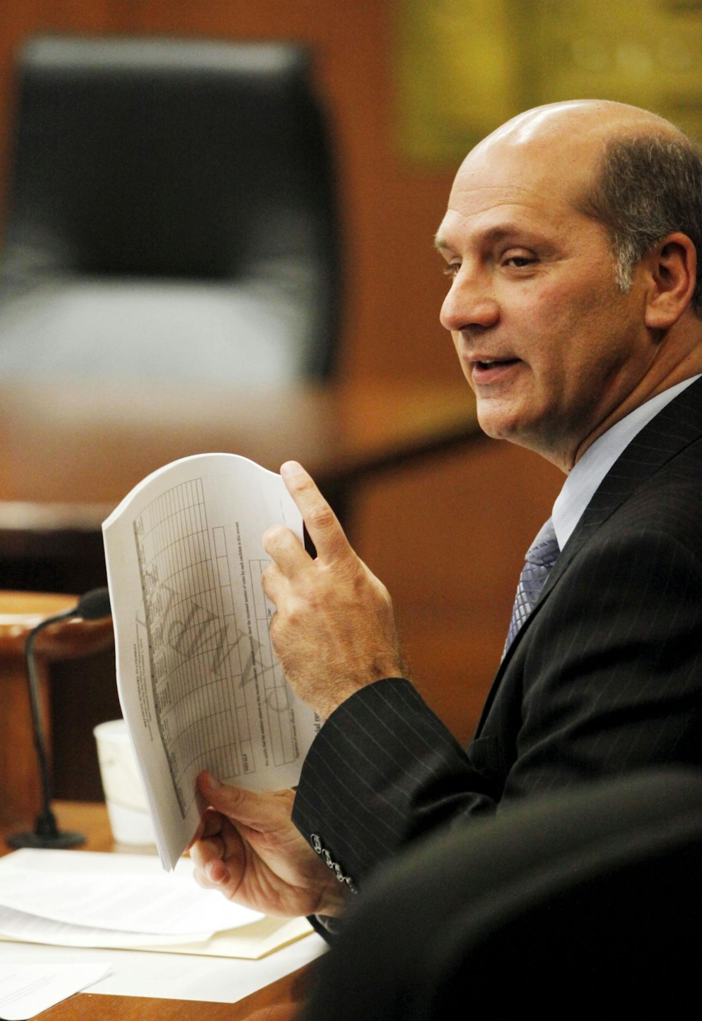
<path fill-rule="evenodd" d="M 77 847 L 86 842 L 83 833 L 72 831 L 61 832 L 56 825 L 56 817 L 51 811 L 51 776 L 46 753 L 46 734 L 42 720 L 42 708 L 39 697 L 39 677 L 37 676 L 37 660 L 34 643 L 37 635 L 50 624 L 66 621 L 71 617 L 81 617 L 84 621 L 98 621 L 111 615 L 109 592 L 106 588 L 94 588 L 79 599 L 72 610 L 64 610 L 54 617 L 47 617 L 33 628 L 24 642 L 24 665 L 30 690 L 30 706 L 32 707 L 32 725 L 34 729 L 34 746 L 37 749 L 39 773 L 42 780 L 42 811 L 37 816 L 34 832 L 13 833 L 7 838 L 10 847 Z"/>

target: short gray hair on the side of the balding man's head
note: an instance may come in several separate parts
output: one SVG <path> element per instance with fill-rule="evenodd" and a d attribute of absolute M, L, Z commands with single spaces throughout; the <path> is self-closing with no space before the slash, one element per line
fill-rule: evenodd
<path fill-rule="evenodd" d="M 605 146 L 598 179 L 576 203 L 609 234 L 616 284 L 666 235 L 687 234 L 697 249 L 692 306 L 702 318 L 702 153 L 682 132 L 619 137 Z"/>

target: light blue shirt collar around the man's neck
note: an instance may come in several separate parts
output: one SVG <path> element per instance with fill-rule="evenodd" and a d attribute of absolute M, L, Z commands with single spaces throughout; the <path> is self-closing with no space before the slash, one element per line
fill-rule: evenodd
<path fill-rule="evenodd" d="M 553 504 L 551 517 L 558 539 L 558 546 L 563 548 L 572 535 L 583 512 L 595 495 L 595 491 L 605 475 L 637 433 L 648 425 L 651 419 L 665 407 L 679 393 L 691 386 L 700 376 L 683 380 L 668 390 L 651 397 L 644 404 L 630 411 L 628 416 L 616 422 L 611 429 L 599 436 L 591 447 L 585 451 L 581 459 L 572 467 L 570 474 L 563 483 L 563 488 Z"/>

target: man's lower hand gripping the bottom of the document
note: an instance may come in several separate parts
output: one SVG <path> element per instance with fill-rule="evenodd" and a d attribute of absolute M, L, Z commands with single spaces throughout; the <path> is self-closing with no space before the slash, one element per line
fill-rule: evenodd
<path fill-rule="evenodd" d="M 314 854 L 291 820 L 295 794 L 257 794 L 201 773 L 210 806 L 190 848 L 195 879 L 266 915 L 340 915 L 348 888 Z"/>

